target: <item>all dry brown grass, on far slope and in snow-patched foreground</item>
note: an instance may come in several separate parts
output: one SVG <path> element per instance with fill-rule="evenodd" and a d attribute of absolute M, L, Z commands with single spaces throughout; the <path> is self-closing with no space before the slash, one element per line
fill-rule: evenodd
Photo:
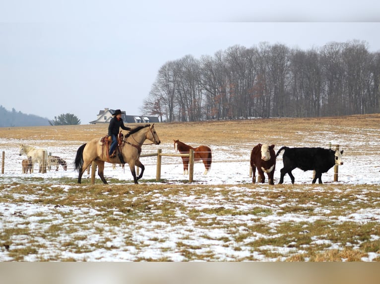
<path fill-rule="evenodd" d="M 255 144 L 270 142 L 276 145 L 302 144 L 310 142 L 307 135 L 318 135 L 328 131 L 332 135 L 353 137 L 373 132 L 371 139 L 379 140 L 380 114 L 366 116 L 309 118 L 309 119 L 254 119 L 235 121 L 208 121 L 197 123 L 162 123 L 155 128 L 162 142 L 172 143 L 173 139 L 188 140 L 193 143 L 217 145 Z M 374 131 L 375 130 L 375 131 Z M 23 139 L 52 143 L 62 141 L 87 142 L 107 132 L 107 125 L 49 126 L 0 128 L 0 137 L 5 139 Z M 368 139 L 368 138 L 366 138 Z M 350 145 L 345 145 L 345 150 Z M 347 151 L 348 155 L 354 149 Z M 361 149 L 371 154 L 373 148 Z M 380 149 L 379 149 L 380 150 Z M 267 259 L 281 261 L 360 261 L 369 252 L 379 253 L 380 240 L 374 239 L 380 232 L 379 220 L 367 220 L 361 224 L 351 221 L 338 222 L 340 216 L 364 210 L 377 210 L 380 204 L 378 185 L 220 185 L 216 190 L 208 185 L 76 185 L 75 181 L 60 181 L 42 184 L 38 179 L 30 179 L 27 184 L 0 184 L 0 202 L 25 203 L 53 206 L 52 216 L 33 215 L 37 225 L 31 226 L 23 212 L 19 214 L 20 223 L 14 228 L 6 228 L 0 233 L 0 247 L 9 251 L 15 261 L 25 260 L 28 255 L 38 255 L 39 260 L 72 261 L 72 257 L 62 258 L 59 250 L 84 254 L 95 249 L 115 249 L 109 245 L 114 232 L 104 232 L 106 226 L 133 230 L 159 230 L 167 228 L 186 228 L 185 234 L 176 242 L 176 252 L 185 260 L 217 261 L 220 256 L 212 245 L 191 243 L 195 229 L 212 228 L 227 232 L 221 237 L 207 234 L 197 238 L 203 243 L 218 243 L 221 247 L 232 247 L 235 252 L 250 251 L 249 256 L 240 256 L 231 260 L 257 260 L 254 252 Z M 53 186 L 54 185 L 54 186 Z M 69 189 L 63 188 L 70 185 Z M 261 189 L 261 190 L 257 190 Z M 264 190 L 262 190 L 264 189 Z M 159 194 L 158 197 L 154 197 Z M 215 196 L 218 196 L 218 202 Z M 203 208 L 192 206 L 186 198 L 191 196 L 194 204 L 207 204 Z M 360 197 L 360 198 L 359 198 Z M 339 200 L 339 202 L 337 202 Z M 209 203 L 207 203 L 209 202 Z M 214 203 L 213 203 L 214 202 Z M 210 205 L 211 204 L 211 205 Z M 241 206 L 244 204 L 244 206 Z M 209 206 L 210 205 L 210 206 Z M 78 220 L 75 210 L 62 208 L 84 208 L 96 210 L 94 216 Z M 322 209 L 320 211 L 319 209 Z M 76 209 L 79 210 L 79 209 Z M 305 218 L 319 216 L 314 222 L 281 222 L 273 226 L 261 221 L 267 216 L 281 218 L 297 214 Z M 1 216 L 1 212 L 0 212 Z M 240 220 L 250 216 L 254 222 Z M 242 219 L 244 220 L 244 219 Z M 60 224 L 59 226 L 55 225 Z M 144 223 L 141 223 L 144 222 Z M 189 226 L 189 222 L 191 226 Z M 95 226 L 94 223 L 104 224 Z M 144 224 L 157 224 L 154 228 L 142 228 Z M 51 226 L 44 226 L 52 224 Z M 192 227 L 193 226 L 193 227 Z M 33 229 L 31 229 L 33 228 Z M 41 228 L 37 230 L 38 228 Z M 243 229 L 242 229 L 243 228 Z M 307 230 L 307 232 L 306 232 Z M 82 244 L 86 234 L 97 234 L 96 243 Z M 305 233 L 306 232 L 306 233 Z M 15 238 L 17 236 L 17 238 Z M 28 241 L 23 243 L 23 237 Z M 70 236 L 60 240 L 59 236 Z M 261 236 L 261 237 L 260 237 Z M 20 243 L 17 239 L 21 237 Z M 40 239 L 56 243 L 54 248 L 40 244 Z M 150 239 L 136 241 L 125 236 L 126 246 L 142 251 L 150 243 L 165 243 L 167 237 L 153 236 Z M 328 240 L 328 242 L 323 242 Z M 336 249 L 332 244 L 340 246 Z M 2 248 L 4 249 L 4 248 Z M 40 251 L 57 251 L 44 255 Z M 168 247 L 162 247 L 159 258 L 136 256 L 135 261 L 169 261 L 165 253 Z M 83 260 L 86 260 L 85 257 Z M 376 260 L 379 260 L 376 259 Z"/>

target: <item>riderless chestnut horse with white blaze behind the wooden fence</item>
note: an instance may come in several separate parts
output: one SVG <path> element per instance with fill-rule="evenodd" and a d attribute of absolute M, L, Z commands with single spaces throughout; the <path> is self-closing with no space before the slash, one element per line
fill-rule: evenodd
<path fill-rule="evenodd" d="M 200 145 L 199 147 L 194 148 L 190 145 L 185 144 L 184 142 L 174 140 L 174 149 L 176 152 L 180 151 L 181 154 L 189 153 L 190 149 L 193 149 L 194 162 L 201 160 L 204 164 L 204 167 L 206 168 L 203 174 L 207 175 L 207 173 L 210 171 L 212 154 L 211 149 L 208 146 Z M 182 162 L 184 163 L 184 175 L 189 174 L 189 160 L 189 157 L 182 157 Z"/>

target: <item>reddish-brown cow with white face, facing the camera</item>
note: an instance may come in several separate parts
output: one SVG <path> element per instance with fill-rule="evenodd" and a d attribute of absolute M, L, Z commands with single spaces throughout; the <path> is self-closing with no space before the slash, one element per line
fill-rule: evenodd
<path fill-rule="evenodd" d="M 252 182 L 256 183 L 256 168 L 257 182 L 264 183 L 264 172 L 268 175 L 269 185 L 274 185 L 273 175 L 276 167 L 276 156 L 274 153 L 274 145 L 257 144 L 251 152 L 251 167 L 252 167 Z"/>

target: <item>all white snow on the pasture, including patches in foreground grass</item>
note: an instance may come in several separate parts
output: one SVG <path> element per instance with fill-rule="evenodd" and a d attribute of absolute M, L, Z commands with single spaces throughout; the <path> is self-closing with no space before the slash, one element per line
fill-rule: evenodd
<path fill-rule="evenodd" d="M 369 134 L 372 135 L 372 134 Z M 377 133 L 379 136 L 379 133 Z M 327 141 L 327 139 L 325 139 Z M 328 147 L 328 142 L 319 141 L 315 139 L 310 139 L 310 142 L 304 142 L 299 146 L 315 146 L 316 142 L 318 146 Z M 51 183 L 52 178 L 62 177 L 67 179 L 77 179 L 78 173 L 73 169 L 73 160 L 75 157 L 76 149 L 81 145 L 81 142 L 62 142 L 60 143 L 49 142 L 49 141 L 39 141 L 37 144 L 35 141 L 23 141 L 31 145 L 42 146 L 53 144 L 54 146 L 46 146 L 48 152 L 53 155 L 60 156 L 67 162 L 68 170 L 63 171 L 63 168 L 60 167 L 59 171 L 54 170 L 48 171 L 46 174 L 22 174 L 21 173 L 21 160 L 25 156 L 18 155 L 18 141 L 14 140 L 1 140 L 1 151 L 5 151 L 5 163 L 4 163 L 4 174 L 0 175 L 0 183 L 2 184 L 11 184 L 13 182 L 23 183 L 28 177 L 40 177 L 46 183 Z M 339 142 L 338 142 L 339 143 Z M 192 144 L 189 142 L 189 144 Z M 343 153 L 343 162 L 344 165 L 339 166 L 339 182 L 337 184 L 352 184 L 352 185 L 380 185 L 380 141 L 372 140 L 371 144 L 365 143 L 364 139 L 351 137 L 350 139 L 346 138 L 345 143 L 340 143 L 341 149 L 344 150 Z M 289 144 L 287 144 L 289 145 Z M 215 206 L 217 200 L 220 196 L 218 193 L 218 185 L 231 185 L 229 190 L 231 194 L 242 194 L 244 191 L 251 191 L 253 189 L 246 189 L 242 187 L 235 187 L 234 185 L 251 183 L 252 178 L 249 176 L 250 166 L 249 158 L 250 152 L 254 144 L 239 144 L 238 145 L 213 145 L 209 144 L 213 153 L 213 161 L 211 171 L 208 175 L 204 176 L 204 166 L 202 163 L 197 162 L 194 165 L 194 184 L 200 185 L 211 185 L 214 187 L 214 200 L 209 200 L 207 198 L 196 198 L 191 199 L 191 197 L 186 196 L 172 196 L 179 206 L 181 204 L 186 204 L 187 206 L 194 206 L 196 208 L 204 208 L 207 206 Z M 293 146 L 293 145 L 289 145 Z M 281 145 L 275 146 L 275 151 L 277 151 Z M 142 148 L 142 154 L 157 152 L 157 149 L 161 148 L 163 153 L 174 153 L 172 143 L 163 143 L 161 145 L 144 145 Z M 369 148 L 373 148 L 371 151 Z M 369 154 L 370 152 L 370 154 Z M 145 172 L 143 180 L 154 180 L 156 178 L 156 157 L 141 157 L 141 162 L 145 165 Z M 282 168 L 282 159 L 281 155 L 277 158 L 276 171 L 274 175 L 275 184 L 278 183 L 280 169 Z M 35 168 L 37 170 L 37 167 Z M 37 171 L 35 171 L 37 172 Z M 333 168 L 331 168 L 328 173 L 322 174 L 323 183 L 331 183 L 333 181 Z M 293 171 L 295 176 L 295 190 L 302 189 L 303 185 L 310 185 L 312 182 L 311 171 L 303 172 L 299 169 Z M 129 168 L 126 166 L 123 170 L 120 166 L 117 166 L 116 169 L 112 169 L 111 164 L 106 164 L 105 168 L 105 177 L 106 179 L 116 178 L 120 180 L 120 183 L 125 183 L 125 181 L 131 182 L 132 176 L 129 171 Z M 90 176 L 85 174 L 83 179 L 89 179 Z M 183 165 L 180 157 L 163 157 L 162 158 L 162 169 L 161 169 L 161 178 L 165 179 L 166 182 L 173 181 L 173 183 L 181 184 L 181 181 L 188 179 L 187 176 L 183 175 Z M 99 183 L 99 177 L 96 176 L 97 183 Z M 142 180 L 142 182 L 144 182 Z M 266 176 L 267 182 L 267 176 Z M 41 182 L 43 183 L 43 181 Z M 290 184 L 290 178 L 285 176 L 285 184 Z M 297 186 L 299 185 L 299 186 Z M 69 186 L 66 186 L 69 188 Z M 128 187 L 133 187 L 133 185 L 128 185 Z M 254 190 L 257 192 L 268 190 L 266 185 L 258 185 Z M 276 190 L 276 186 L 273 187 L 273 190 Z M 316 186 L 315 190 L 323 190 L 323 186 Z M 0 197 L 7 194 L 5 190 L 0 192 Z M 160 192 L 152 192 L 155 194 L 154 197 L 157 199 L 157 202 L 165 202 L 165 197 Z M 31 196 L 30 198 L 35 198 Z M 220 197 L 221 198 L 221 197 Z M 223 200 L 221 200 L 222 202 Z M 285 201 L 284 201 L 285 202 Z M 189 205 L 190 204 L 190 205 Z M 224 206 L 236 207 L 237 204 L 225 204 Z M 239 206 L 252 206 L 248 204 L 239 204 Z M 55 208 L 54 206 L 49 205 L 38 205 L 38 204 L 25 204 L 25 203 L 0 203 L 0 228 L 9 228 L 11 226 L 19 226 L 22 220 L 30 219 L 30 222 L 34 222 L 35 227 L 44 226 L 43 223 L 38 223 L 38 219 L 35 220 L 36 212 L 41 213 L 46 216 L 57 212 L 57 210 L 75 210 L 77 212 L 75 222 L 80 222 L 82 218 L 87 218 L 88 216 L 96 216 L 98 214 L 97 210 L 91 208 L 67 208 L 63 206 L 62 208 Z M 275 212 L 274 208 L 271 208 Z M 316 209 L 317 210 L 317 209 Z M 22 212 L 22 217 L 20 217 L 17 212 Z M 120 217 L 121 212 L 115 212 L 115 218 Z M 55 216 L 54 222 L 57 224 L 68 224 L 67 220 L 64 220 L 63 215 L 57 214 Z M 342 216 L 341 218 L 349 218 L 350 216 Z M 224 217 L 225 218 L 225 217 Z M 322 217 L 321 217 L 322 218 Z M 318 219 L 318 218 L 316 218 Z M 358 210 L 350 218 L 351 221 L 358 223 L 366 223 L 368 220 L 376 220 L 380 222 L 380 208 L 377 210 Z M 231 220 L 224 220 L 224 222 L 241 222 L 242 224 L 251 224 L 257 220 L 252 215 L 243 215 L 243 216 L 234 216 Z M 301 216 L 297 214 L 285 214 L 285 215 L 269 215 L 260 219 L 260 222 L 273 223 L 273 226 L 276 227 L 276 224 L 281 222 L 313 222 L 308 216 Z M 141 220 L 141 222 L 144 222 Z M 47 225 L 45 225 L 47 226 Z M 103 233 L 99 233 L 99 230 L 96 230 L 96 227 L 102 226 Z M 243 225 L 242 225 L 243 226 Z M 193 228 L 194 230 L 191 233 L 188 232 L 188 228 Z M 246 228 L 242 227 L 242 230 Z M 254 257 L 260 261 L 271 261 L 278 260 L 278 258 L 268 259 L 262 257 L 259 252 L 252 252 L 249 249 L 245 249 L 242 246 L 242 249 L 236 250 L 234 247 L 223 245 L 224 243 L 218 239 L 222 237 L 229 237 L 229 232 L 222 229 L 199 229 L 196 230 L 193 222 L 188 220 L 186 226 L 183 225 L 170 225 L 168 223 L 162 224 L 136 224 L 134 226 L 126 227 L 107 227 L 107 225 L 102 221 L 95 221 L 92 228 L 82 232 L 81 234 L 88 236 L 86 238 L 87 245 L 91 243 L 96 243 L 99 238 L 104 238 L 105 236 L 109 237 L 109 246 L 113 246 L 119 249 L 106 250 L 102 249 L 93 249 L 87 253 L 75 254 L 73 252 L 63 252 L 61 255 L 62 259 L 72 258 L 78 261 L 87 260 L 87 261 L 134 261 L 140 258 L 145 259 L 160 259 L 166 257 L 167 259 L 173 261 L 184 261 L 183 255 L 181 255 L 176 250 L 176 243 L 178 241 L 187 243 L 189 246 L 199 246 L 204 247 L 203 250 L 213 250 L 214 255 L 217 260 L 220 261 L 230 261 L 230 260 L 239 260 L 244 259 L 247 254 L 255 254 Z M 125 236 L 128 236 L 135 241 L 143 244 L 138 250 L 132 246 L 124 245 Z M 165 241 L 157 242 L 152 239 L 159 238 L 160 236 L 165 236 Z M 205 238 L 204 236 L 208 236 Z M 63 235 L 60 239 L 57 240 L 57 243 L 46 243 L 46 251 L 39 252 L 39 255 L 51 255 L 54 254 L 53 250 L 55 246 L 59 246 L 59 243 L 69 239 L 70 235 Z M 252 239 L 259 237 L 259 234 L 253 234 Z M 378 232 L 374 233 L 372 236 L 374 239 L 379 238 Z M 25 239 L 23 239 L 25 238 Z M 184 241 L 183 239 L 187 239 Z M 27 241 L 27 237 L 20 236 L 19 238 L 15 237 L 14 242 L 23 243 Z M 43 241 L 43 240 L 41 240 Z M 329 241 L 329 240 L 315 240 L 318 241 Z M 85 245 L 84 243 L 78 245 Z M 241 245 L 241 244 L 240 244 Z M 335 248 L 339 244 L 331 243 L 331 248 Z M 278 250 L 278 248 L 275 248 Z M 281 248 L 282 250 L 291 250 L 291 248 Z M 202 250 L 202 249 L 201 249 Z M 302 252 L 299 252 L 302 253 Z M 372 259 L 378 257 L 379 254 L 372 253 L 369 254 L 367 258 L 363 258 L 364 261 L 371 261 Z M 12 260 L 8 256 L 8 253 L 5 249 L 0 248 L 0 261 Z M 29 255 L 24 259 L 25 261 L 38 261 L 39 258 L 36 255 Z"/>

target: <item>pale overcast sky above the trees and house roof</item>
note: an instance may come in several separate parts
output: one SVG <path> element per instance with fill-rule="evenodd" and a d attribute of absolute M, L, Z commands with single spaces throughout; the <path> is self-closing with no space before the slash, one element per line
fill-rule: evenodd
<path fill-rule="evenodd" d="M 139 115 L 167 61 L 260 42 L 379 51 L 379 31 L 373 0 L 0 0 L 0 105 L 82 124 L 105 107 Z"/>

